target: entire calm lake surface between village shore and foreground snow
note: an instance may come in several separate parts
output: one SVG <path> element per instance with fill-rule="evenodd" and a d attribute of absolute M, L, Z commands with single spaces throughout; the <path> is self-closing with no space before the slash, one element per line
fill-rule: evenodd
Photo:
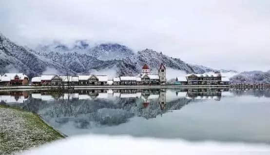
<path fill-rule="evenodd" d="M 134 89 L 0 92 L 1 104 L 84 134 L 270 144 L 270 90 Z"/>

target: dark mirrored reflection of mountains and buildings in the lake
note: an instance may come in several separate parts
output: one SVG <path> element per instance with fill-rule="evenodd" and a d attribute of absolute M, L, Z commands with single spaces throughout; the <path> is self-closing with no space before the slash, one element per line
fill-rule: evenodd
<path fill-rule="evenodd" d="M 179 110 L 194 100 L 220 100 L 218 89 L 79 90 L 72 94 L 32 92 L 19 106 L 56 125 L 73 122 L 76 128 L 112 126 L 138 116 L 146 119 Z"/>

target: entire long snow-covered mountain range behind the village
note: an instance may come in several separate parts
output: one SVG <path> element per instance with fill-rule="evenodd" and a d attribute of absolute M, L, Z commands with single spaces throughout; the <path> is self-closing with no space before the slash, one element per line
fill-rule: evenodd
<path fill-rule="evenodd" d="M 65 74 L 69 70 L 74 74 L 108 74 L 113 70 L 115 72 L 111 76 L 136 75 L 141 72 L 145 63 L 149 65 L 152 73 L 156 73 L 159 65 L 164 63 L 168 77 L 172 78 L 179 74 L 215 71 L 152 49 L 135 53 L 128 47 L 116 43 L 91 47 L 87 40 L 77 40 L 71 45 L 55 41 L 49 45 L 39 45 L 36 50 L 32 50 L 0 35 L 0 74 L 16 71 L 33 77 L 46 70 L 53 70 L 58 74 Z"/>

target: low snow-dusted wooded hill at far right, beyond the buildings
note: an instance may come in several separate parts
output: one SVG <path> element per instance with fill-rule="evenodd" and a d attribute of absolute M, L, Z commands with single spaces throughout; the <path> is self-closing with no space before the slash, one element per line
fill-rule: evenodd
<path fill-rule="evenodd" d="M 270 71 L 242 72 L 230 78 L 231 83 L 270 84 Z"/>

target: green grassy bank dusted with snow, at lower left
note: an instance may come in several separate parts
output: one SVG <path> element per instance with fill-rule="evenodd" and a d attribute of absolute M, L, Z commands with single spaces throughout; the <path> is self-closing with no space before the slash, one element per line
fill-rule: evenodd
<path fill-rule="evenodd" d="M 12 155 L 64 138 L 39 115 L 0 104 L 0 154 Z"/>

